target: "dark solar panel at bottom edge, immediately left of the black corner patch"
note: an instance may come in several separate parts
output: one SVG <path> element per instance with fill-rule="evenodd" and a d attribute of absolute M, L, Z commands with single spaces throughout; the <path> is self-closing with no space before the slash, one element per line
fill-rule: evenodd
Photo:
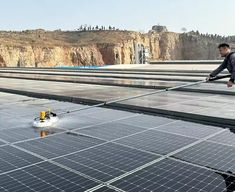
<path fill-rule="evenodd" d="M 111 185 L 124 191 L 144 192 L 222 192 L 227 188 L 226 181 L 220 174 L 169 159 L 128 175 Z M 229 185 L 232 185 L 231 181 Z"/>

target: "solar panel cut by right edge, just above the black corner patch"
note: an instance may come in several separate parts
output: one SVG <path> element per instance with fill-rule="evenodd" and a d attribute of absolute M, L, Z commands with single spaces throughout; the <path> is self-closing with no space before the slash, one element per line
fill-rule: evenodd
<path fill-rule="evenodd" d="M 235 148 L 211 142 L 202 142 L 179 152 L 175 157 L 221 171 L 235 172 Z"/>

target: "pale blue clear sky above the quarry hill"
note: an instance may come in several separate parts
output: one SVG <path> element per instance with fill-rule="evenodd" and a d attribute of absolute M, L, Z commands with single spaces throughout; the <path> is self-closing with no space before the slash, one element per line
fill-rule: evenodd
<path fill-rule="evenodd" d="M 80 25 L 235 35 L 235 0 L 2 0 L 0 30 L 75 30 Z"/>

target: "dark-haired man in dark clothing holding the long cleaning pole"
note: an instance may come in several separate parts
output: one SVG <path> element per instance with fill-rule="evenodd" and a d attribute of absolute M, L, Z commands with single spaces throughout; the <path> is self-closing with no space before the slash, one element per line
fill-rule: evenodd
<path fill-rule="evenodd" d="M 215 77 L 216 75 L 221 73 L 225 68 L 227 68 L 229 73 L 231 74 L 231 78 L 227 82 L 227 86 L 232 87 L 235 79 L 235 52 L 231 52 L 230 46 L 227 43 L 220 44 L 218 46 L 218 49 L 221 57 L 225 57 L 225 59 L 223 63 L 209 75 L 207 80 Z"/>

